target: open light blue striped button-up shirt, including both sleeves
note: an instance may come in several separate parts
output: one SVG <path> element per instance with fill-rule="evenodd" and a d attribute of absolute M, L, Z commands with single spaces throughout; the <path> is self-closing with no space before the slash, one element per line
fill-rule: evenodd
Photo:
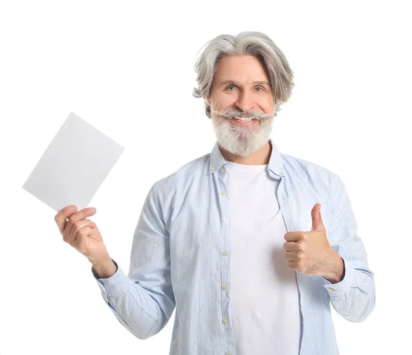
<path fill-rule="evenodd" d="M 269 143 L 268 174 L 280 180 L 277 197 L 286 230 L 310 231 L 312 208 L 320 203 L 328 241 L 345 263 L 338 283 L 296 272 L 299 355 L 339 354 L 330 303 L 352 322 L 364 321 L 375 305 L 374 273 L 352 205 L 339 175 L 280 153 Z M 92 269 L 108 306 L 139 339 L 162 330 L 176 308 L 170 355 L 236 355 L 229 312 L 231 216 L 225 172 L 216 142 L 211 153 L 155 182 L 137 222 L 128 276 L 117 266 L 112 277 L 97 279 Z"/>

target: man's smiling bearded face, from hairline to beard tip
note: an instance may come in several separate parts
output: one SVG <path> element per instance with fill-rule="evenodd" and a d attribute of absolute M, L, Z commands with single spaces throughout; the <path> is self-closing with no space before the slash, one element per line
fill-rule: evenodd
<path fill-rule="evenodd" d="M 220 58 L 207 103 L 218 143 L 227 151 L 247 156 L 268 142 L 275 114 L 273 94 L 255 56 Z"/>

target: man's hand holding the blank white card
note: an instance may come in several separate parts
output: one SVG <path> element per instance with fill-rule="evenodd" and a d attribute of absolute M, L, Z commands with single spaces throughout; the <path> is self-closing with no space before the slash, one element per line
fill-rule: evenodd
<path fill-rule="evenodd" d="M 76 211 L 77 206 L 66 206 L 54 217 L 63 241 L 87 257 L 100 278 L 111 277 L 117 268 L 108 255 L 99 228 L 87 219 L 96 213 L 95 209 Z"/>

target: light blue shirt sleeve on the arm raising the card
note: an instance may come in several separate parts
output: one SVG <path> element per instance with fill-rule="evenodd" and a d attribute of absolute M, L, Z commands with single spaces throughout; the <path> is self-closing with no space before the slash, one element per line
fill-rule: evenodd
<path fill-rule="evenodd" d="M 114 275 L 98 279 L 102 297 L 129 332 L 146 339 L 160 332 L 175 307 L 170 281 L 169 234 L 157 204 L 155 183 L 137 222 L 126 276 L 117 266 Z"/>

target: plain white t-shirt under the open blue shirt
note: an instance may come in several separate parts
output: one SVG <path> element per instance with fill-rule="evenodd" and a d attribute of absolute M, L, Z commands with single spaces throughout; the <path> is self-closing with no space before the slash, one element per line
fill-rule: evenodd
<path fill-rule="evenodd" d="M 229 313 L 237 355 L 298 355 L 299 290 L 284 257 L 280 180 L 267 169 L 227 161 L 233 228 Z"/>

